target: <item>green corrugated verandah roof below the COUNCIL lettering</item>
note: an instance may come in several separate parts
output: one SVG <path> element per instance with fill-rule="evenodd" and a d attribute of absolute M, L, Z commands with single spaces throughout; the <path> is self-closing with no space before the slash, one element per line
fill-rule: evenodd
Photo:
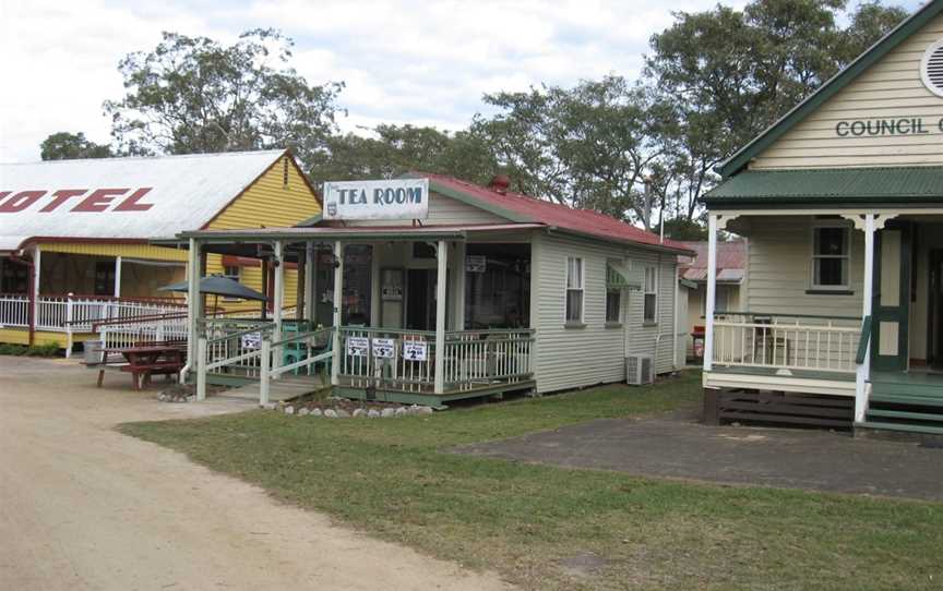
<path fill-rule="evenodd" d="M 704 195 L 709 205 L 943 201 L 943 167 L 748 170 Z"/>

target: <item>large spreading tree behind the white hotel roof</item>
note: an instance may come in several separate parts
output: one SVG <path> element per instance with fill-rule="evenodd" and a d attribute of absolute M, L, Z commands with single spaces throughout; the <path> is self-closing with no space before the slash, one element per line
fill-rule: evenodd
<path fill-rule="evenodd" d="M 165 33 L 118 65 L 124 97 L 106 100 L 111 133 L 129 154 L 291 147 L 302 161 L 337 132 L 343 83 L 311 85 L 288 67 L 293 41 L 253 29 L 230 46 Z"/>

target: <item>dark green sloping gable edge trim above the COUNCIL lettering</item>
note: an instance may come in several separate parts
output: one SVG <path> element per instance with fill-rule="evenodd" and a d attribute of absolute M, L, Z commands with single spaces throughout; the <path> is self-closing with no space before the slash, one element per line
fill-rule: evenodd
<path fill-rule="evenodd" d="M 868 51 L 859 56 L 847 68 L 835 74 L 805 100 L 792 108 L 779 121 L 771 125 L 766 131 L 754 137 L 749 144 L 740 148 L 726 161 L 721 162 L 718 171 L 726 179 L 747 166 L 751 159 L 779 140 L 783 134 L 792 129 L 797 123 L 821 107 L 826 100 L 845 88 L 851 81 L 862 72 L 874 65 L 888 52 L 894 50 L 904 40 L 914 35 L 934 16 L 943 12 L 943 0 L 932 0 L 923 8 L 910 15 L 897 25 L 887 35 L 871 46 Z"/>

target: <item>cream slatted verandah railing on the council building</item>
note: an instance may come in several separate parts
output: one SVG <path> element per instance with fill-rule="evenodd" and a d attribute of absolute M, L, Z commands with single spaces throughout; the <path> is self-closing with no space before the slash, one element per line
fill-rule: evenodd
<path fill-rule="evenodd" d="M 861 318 L 718 312 L 712 360 L 718 366 L 854 374 Z"/>

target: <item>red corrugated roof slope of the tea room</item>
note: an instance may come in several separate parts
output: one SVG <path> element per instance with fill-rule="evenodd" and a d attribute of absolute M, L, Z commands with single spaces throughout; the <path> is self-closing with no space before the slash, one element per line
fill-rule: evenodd
<path fill-rule="evenodd" d="M 415 172 L 414 174 L 428 177 L 433 184 L 440 184 L 453 191 L 458 191 L 473 200 L 482 202 L 487 206 L 508 210 L 525 218 L 525 221 L 536 221 L 550 227 L 619 242 L 635 242 L 637 244 L 661 246 L 678 251 L 689 250 L 681 242 L 668 239 L 663 242 L 655 233 L 647 232 L 597 212 L 574 209 L 559 203 L 551 203 L 511 191 L 502 194 L 485 186 L 442 174 L 432 174 L 429 172 Z"/>

